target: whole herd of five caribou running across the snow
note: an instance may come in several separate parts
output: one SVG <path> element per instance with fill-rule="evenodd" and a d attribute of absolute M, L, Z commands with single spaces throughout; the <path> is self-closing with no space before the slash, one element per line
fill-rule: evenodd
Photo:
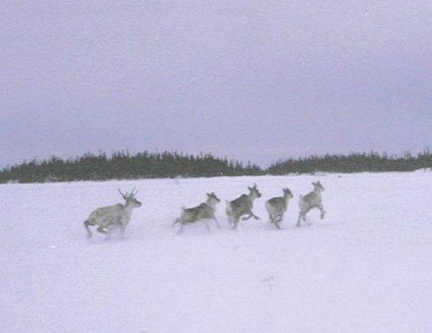
<path fill-rule="evenodd" d="M 324 190 L 321 182 L 313 182 L 313 191 L 307 195 L 300 195 L 299 208 L 300 212 L 298 214 L 297 226 L 300 227 L 300 221 L 306 221 L 306 214 L 309 210 L 317 208 L 321 211 L 321 219 L 324 219 L 324 208 L 322 206 L 321 192 Z M 256 220 L 260 218 L 257 217 L 252 208 L 254 207 L 254 200 L 261 197 L 256 184 L 253 187 L 249 187 L 248 195 L 241 195 L 237 199 L 232 201 L 226 201 L 226 215 L 228 216 L 228 221 L 230 223 L 231 229 L 236 229 L 237 224 L 241 217 L 241 220 L 245 221 L 253 217 Z M 92 236 L 92 232 L 89 226 L 97 226 L 97 231 L 101 234 L 106 234 L 109 236 L 110 232 L 115 229 L 121 230 L 121 235 L 123 236 L 125 227 L 130 221 L 132 215 L 132 210 L 141 206 L 141 202 L 136 200 L 135 196 L 137 191 L 135 188 L 131 193 L 119 193 L 125 199 L 125 204 L 117 204 L 114 206 L 97 208 L 91 212 L 90 216 L 86 221 L 84 221 L 84 227 L 86 227 L 88 238 Z M 283 214 L 287 211 L 288 202 L 293 198 L 293 194 L 289 188 L 283 188 L 282 197 L 274 197 L 265 202 L 265 209 L 269 214 L 269 222 L 276 225 L 280 229 L 280 221 L 283 220 Z M 204 224 L 209 230 L 208 225 L 205 223 L 206 219 L 213 219 L 217 227 L 221 227 L 219 221 L 215 217 L 216 205 L 219 204 L 221 200 L 215 195 L 215 193 L 207 193 L 207 201 L 203 202 L 199 206 L 193 208 L 182 207 L 180 217 L 174 221 L 173 225 L 177 223 L 180 224 L 179 234 L 183 232 L 184 225 L 189 223 L 195 223 L 197 221 L 204 221 Z"/>

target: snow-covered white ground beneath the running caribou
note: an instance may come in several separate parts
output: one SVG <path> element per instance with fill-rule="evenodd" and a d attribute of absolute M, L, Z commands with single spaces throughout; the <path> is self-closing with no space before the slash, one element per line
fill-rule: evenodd
<path fill-rule="evenodd" d="M 298 195 L 326 188 L 309 225 Z M 226 199 L 263 197 L 228 230 Z M 82 222 L 139 188 L 124 240 Z M 264 203 L 291 188 L 284 230 Z M 0 186 L 1 332 L 432 332 L 432 173 L 219 177 Z M 211 232 L 171 228 L 214 191 Z"/>

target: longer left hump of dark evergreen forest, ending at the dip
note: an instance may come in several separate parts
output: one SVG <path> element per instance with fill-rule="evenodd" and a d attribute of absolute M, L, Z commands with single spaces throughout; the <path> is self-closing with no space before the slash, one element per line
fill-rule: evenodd
<path fill-rule="evenodd" d="M 53 156 L 48 160 L 32 160 L 6 167 L 0 171 L 0 183 L 5 182 L 71 182 L 75 180 L 120 180 L 166 177 L 214 177 L 219 175 L 260 175 L 256 165 L 216 158 L 210 153 L 199 156 L 177 152 L 130 154 L 117 151 L 86 153 L 63 160 Z"/>

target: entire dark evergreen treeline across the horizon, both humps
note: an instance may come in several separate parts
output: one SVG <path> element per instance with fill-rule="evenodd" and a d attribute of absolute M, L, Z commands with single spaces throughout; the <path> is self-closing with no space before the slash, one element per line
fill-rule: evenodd
<path fill-rule="evenodd" d="M 0 171 L 0 183 L 6 182 L 72 182 L 75 180 L 121 180 L 166 177 L 215 177 L 220 175 L 286 175 L 289 173 L 355 173 L 383 171 L 414 171 L 432 168 L 432 153 L 425 149 L 417 156 L 387 156 L 386 153 L 351 153 L 349 155 L 308 156 L 289 158 L 261 169 L 255 164 L 217 158 L 211 153 L 198 156 L 177 152 L 130 154 L 117 151 L 86 153 L 63 160 L 51 157 L 6 167 Z"/>

